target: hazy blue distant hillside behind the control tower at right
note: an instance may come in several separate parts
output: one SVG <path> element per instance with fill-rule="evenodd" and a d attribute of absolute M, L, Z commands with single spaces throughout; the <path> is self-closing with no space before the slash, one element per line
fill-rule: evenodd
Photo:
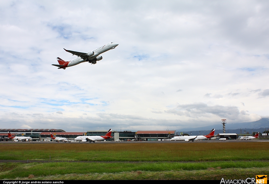
<path fill-rule="evenodd" d="M 192 131 L 192 135 L 199 135 L 199 131 L 200 131 L 200 135 L 206 135 L 213 128 L 216 129 L 215 134 L 222 133 L 221 122 L 219 124 L 210 125 L 210 126 L 206 126 L 206 127 L 184 128 L 182 130 L 179 130 L 179 132 L 184 132 L 186 134 L 190 134 L 190 131 Z M 226 128 L 226 133 L 228 132 L 228 133 L 240 134 L 240 128 L 242 129 L 242 134 L 244 133 L 244 130 L 251 134 L 252 129 L 253 129 L 253 132 L 263 132 L 264 128 L 267 128 L 267 129 L 269 128 L 269 118 L 262 118 L 258 121 L 245 122 L 245 123 L 229 124 L 229 122 L 228 122 L 227 124 L 225 124 L 225 128 Z"/>

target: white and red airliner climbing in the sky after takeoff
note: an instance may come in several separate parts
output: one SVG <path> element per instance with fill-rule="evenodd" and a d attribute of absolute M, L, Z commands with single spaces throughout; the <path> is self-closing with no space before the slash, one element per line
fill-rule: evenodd
<path fill-rule="evenodd" d="M 70 67 L 70 66 L 75 66 L 79 63 L 83 63 L 83 62 L 89 62 L 91 64 L 96 64 L 96 61 L 100 61 L 101 59 L 103 59 L 102 56 L 99 56 L 100 54 L 110 50 L 110 49 L 115 49 L 116 46 L 118 46 L 118 43 L 107 43 L 101 47 L 98 47 L 95 50 L 92 50 L 91 52 L 88 53 L 83 53 L 83 52 L 76 52 L 76 51 L 72 51 L 72 50 L 66 50 L 66 52 L 70 52 L 73 55 L 76 55 L 77 58 L 73 59 L 72 61 L 64 61 L 61 58 L 57 57 L 58 63 L 59 64 L 52 64 L 53 66 L 57 66 L 58 69 L 64 69 L 66 67 Z"/>

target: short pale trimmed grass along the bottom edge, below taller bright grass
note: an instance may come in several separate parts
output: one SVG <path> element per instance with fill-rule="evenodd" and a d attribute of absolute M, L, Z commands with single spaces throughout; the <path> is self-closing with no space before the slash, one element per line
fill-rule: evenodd
<path fill-rule="evenodd" d="M 254 178 L 257 173 L 268 175 L 268 168 L 239 168 L 196 171 L 137 171 L 120 173 L 88 173 L 37 176 L 34 180 L 221 180 Z M 16 178 L 29 180 L 29 178 Z"/>

